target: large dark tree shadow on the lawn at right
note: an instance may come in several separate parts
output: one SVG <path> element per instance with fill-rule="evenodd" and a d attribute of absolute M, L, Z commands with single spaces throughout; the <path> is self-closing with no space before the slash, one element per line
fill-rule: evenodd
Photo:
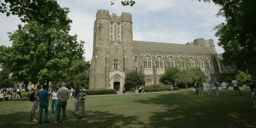
<path fill-rule="evenodd" d="M 256 127 L 256 110 L 246 96 L 198 96 L 194 93 L 158 95 L 135 100 L 163 106 L 149 118 L 149 127 Z M 150 94 L 147 94 L 150 95 Z"/>

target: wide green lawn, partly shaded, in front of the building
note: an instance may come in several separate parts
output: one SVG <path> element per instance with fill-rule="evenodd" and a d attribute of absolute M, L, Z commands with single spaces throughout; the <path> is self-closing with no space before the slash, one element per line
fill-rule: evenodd
<path fill-rule="evenodd" d="M 243 96 L 198 96 L 195 91 L 86 97 L 86 117 L 77 119 L 68 101 L 67 122 L 55 124 L 49 106 L 49 124 L 29 121 L 32 102 L 0 102 L 0 127 L 256 127 L 256 109 L 250 93 Z M 205 94 L 207 92 L 205 91 Z M 222 90 L 220 92 L 222 94 Z M 38 110 L 35 116 L 38 119 Z M 43 114 L 44 116 L 44 114 Z"/>

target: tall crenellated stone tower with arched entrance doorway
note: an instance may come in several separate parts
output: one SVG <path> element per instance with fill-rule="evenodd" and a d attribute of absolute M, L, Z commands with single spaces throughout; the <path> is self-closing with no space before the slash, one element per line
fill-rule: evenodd
<path fill-rule="evenodd" d="M 115 89 L 124 86 L 126 72 L 134 69 L 132 55 L 132 15 L 110 15 L 98 10 L 94 22 L 90 89 Z"/>

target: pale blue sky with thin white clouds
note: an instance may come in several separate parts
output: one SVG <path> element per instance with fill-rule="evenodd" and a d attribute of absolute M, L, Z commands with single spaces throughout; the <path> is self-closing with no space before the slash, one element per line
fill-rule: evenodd
<path fill-rule="evenodd" d="M 224 50 L 218 46 L 214 26 L 225 22 L 216 17 L 220 7 L 214 3 L 198 0 L 135 0 L 133 7 L 122 6 L 121 0 L 111 5 L 111 0 L 57 0 L 60 7 L 69 7 L 68 17 L 73 21 L 70 35 L 77 34 L 83 40 L 84 57 L 90 61 L 93 53 L 93 26 L 99 9 L 109 10 L 110 15 L 122 12 L 132 14 L 133 40 L 185 44 L 196 38 L 213 39 L 217 53 Z M 17 15 L 7 17 L 0 13 L 0 45 L 11 46 L 7 32 L 18 29 Z"/>

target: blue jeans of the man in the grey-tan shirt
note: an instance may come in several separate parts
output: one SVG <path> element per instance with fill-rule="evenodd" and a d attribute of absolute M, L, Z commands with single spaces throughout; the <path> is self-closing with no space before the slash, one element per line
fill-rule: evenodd
<path fill-rule="evenodd" d="M 66 120 L 66 107 L 67 107 L 67 101 L 61 102 L 60 100 L 57 101 L 57 107 L 56 107 L 56 122 L 59 122 L 60 120 L 60 110 L 62 109 L 62 121 Z"/>

